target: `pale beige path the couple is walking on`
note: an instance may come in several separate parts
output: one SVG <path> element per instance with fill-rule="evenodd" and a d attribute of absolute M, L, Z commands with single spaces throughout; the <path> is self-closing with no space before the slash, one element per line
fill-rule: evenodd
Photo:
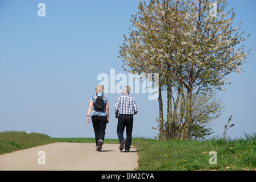
<path fill-rule="evenodd" d="M 130 171 L 138 167 L 138 154 L 119 151 L 119 144 L 103 144 L 97 152 L 93 143 L 53 143 L 0 155 L 0 171 L 5 170 L 90 170 Z M 45 153 L 45 164 L 43 153 Z"/>

